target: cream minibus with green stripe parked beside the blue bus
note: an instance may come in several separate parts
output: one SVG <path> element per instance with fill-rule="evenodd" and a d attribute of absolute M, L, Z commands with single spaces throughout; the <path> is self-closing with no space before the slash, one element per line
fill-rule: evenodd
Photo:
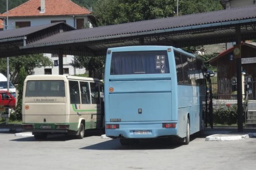
<path fill-rule="evenodd" d="M 45 139 L 49 133 L 84 137 L 85 129 L 104 128 L 103 83 L 63 75 L 27 76 L 22 99 L 22 129 Z"/>

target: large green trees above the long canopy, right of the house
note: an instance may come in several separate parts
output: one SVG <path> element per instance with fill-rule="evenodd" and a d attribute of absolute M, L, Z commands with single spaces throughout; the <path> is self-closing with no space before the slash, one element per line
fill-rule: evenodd
<path fill-rule="evenodd" d="M 93 8 L 99 26 L 177 16 L 176 0 L 98 0 Z M 223 9 L 219 0 L 179 0 L 179 15 Z"/>

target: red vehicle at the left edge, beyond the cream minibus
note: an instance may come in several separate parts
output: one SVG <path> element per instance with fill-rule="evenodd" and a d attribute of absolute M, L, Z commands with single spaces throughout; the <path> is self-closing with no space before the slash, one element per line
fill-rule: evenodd
<path fill-rule="evenodd" d="M 0 91 L 0 105 L 9 106 L 11 109 L 15 108 L 16 99 L 8 91 Z"/>

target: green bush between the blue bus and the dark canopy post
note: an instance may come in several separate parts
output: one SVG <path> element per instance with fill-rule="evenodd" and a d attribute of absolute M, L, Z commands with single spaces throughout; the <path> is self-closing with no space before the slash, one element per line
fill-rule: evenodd
<path fill-rule="evenodd" d="M 222 104 L 213 108 L 214 124 L 237 124 L 237 104 Z"/>

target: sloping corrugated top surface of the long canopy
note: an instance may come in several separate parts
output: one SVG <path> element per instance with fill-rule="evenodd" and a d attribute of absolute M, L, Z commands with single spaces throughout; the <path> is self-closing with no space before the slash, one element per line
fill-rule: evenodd
<path fill-rule="evenodd" d="M 56 34 L 54 36 L 34 42 L 31 45 L 108 37 L 121 34 L 138 33 L 185 26 L 195 26 L 200 24 L 251 18 L 256 18 L 256 6 L 197 13 L 180 17 L 169 17 L 147 21 L 131 22 L 112 26 L 96 27 L 91 29 L 74 30 Z"/>

